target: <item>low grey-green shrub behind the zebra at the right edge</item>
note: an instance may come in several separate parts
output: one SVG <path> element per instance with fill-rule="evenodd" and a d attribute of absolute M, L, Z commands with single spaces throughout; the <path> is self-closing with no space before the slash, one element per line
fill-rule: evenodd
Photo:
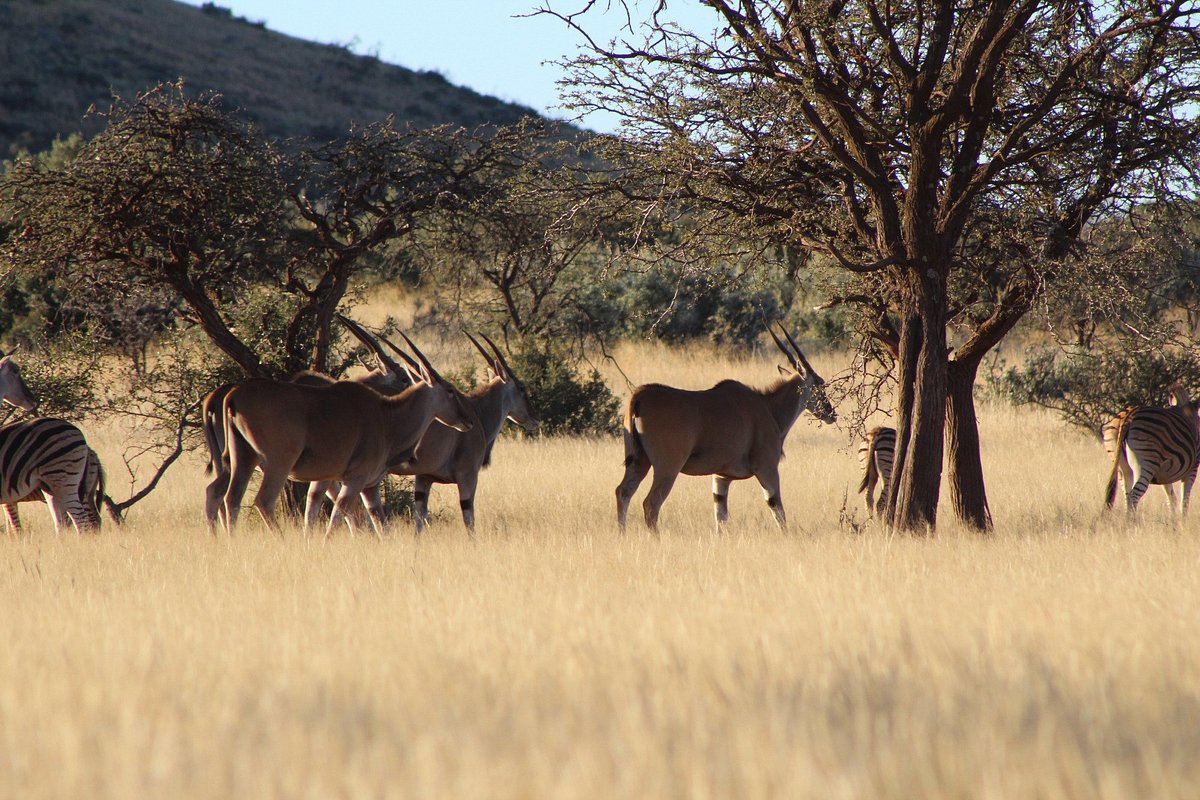
<path fill-rule="evenodd" d="M 1172 384 L 1200 397 L 1200 354 L 1192 349 L 1092 351 L 1039 348 L 1021 366 L 996 363 L 992 390 L 1018 404 L 1054 409 L 1072 425 L 1099 435 L 1100 426 L 1127 405 L 1165 405 Z"/>

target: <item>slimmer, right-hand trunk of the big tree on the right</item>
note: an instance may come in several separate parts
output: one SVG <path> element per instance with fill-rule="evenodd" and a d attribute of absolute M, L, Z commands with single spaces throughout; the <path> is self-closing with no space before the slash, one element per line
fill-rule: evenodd
<path fill-rule="evenodd" d="M 947 368 L 946 439 L 950 501 L 964 523 L 991 530 L 991 511 L 979 458 L 979 422 L 974 408 L 974 381 L 979 361 L 952 361 Z"/>

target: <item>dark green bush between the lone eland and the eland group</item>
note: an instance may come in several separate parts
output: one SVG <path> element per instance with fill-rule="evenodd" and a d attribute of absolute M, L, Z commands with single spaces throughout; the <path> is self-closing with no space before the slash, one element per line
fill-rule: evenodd
<path fill-rule="evenodd" d="M 542 433 L 608 434 L 619 429 L 619 402 L 600 373 L 581 374 L 548 342 L 527 341 L 509 366 L 529 392 Z"/>

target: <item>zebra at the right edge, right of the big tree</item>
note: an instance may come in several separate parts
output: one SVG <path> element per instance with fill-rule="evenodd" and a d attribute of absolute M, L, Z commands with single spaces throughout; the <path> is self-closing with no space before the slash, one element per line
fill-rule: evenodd
<path fill-rule="evenodd" d="M 1176 384 L 1171 387 L 1170 407 L 1127 408 L 1104 423 L 1100 435 L 1112 459 L 1112 474 L 1104 497 L 1106 507 L 1112 507 L 1117 479 L 1121 477 L 1128 511 L 1136 510 L 1138 501 L 1151 483 L 1158 483 L 1166 492 L 1175 513 L 1178 509 L 1172 483 L 1182 481 L 1182 513 L 1187 516 L 1192 485 L 1200 464 L 1200 420 L 1183 386 Z"/>

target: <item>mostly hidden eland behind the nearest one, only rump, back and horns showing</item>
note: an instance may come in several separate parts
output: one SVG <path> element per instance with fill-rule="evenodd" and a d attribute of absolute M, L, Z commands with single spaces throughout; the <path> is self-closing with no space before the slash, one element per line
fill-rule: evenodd
<path fill-rule="evenodd" d="M 338 314 L 337 318 L 374 354 L 376 366 L 366 374 L 353 378 L 354 383 L 389 396 L 398 395 L 413 385 L 409 371 L 394 361 L 362 326 L 342 314 Z M 336 379 L 306 369 L 293 375 L 292 381 L 311 386 L 328 386 L 336 383 Z M 229 464 L 224 458 L 224 398 L 234 386 L 236 384 L 217 386 L 205 395 L 200 403 L 202 428 L 209 450 L 209 463 L 204 468 L 204 474 L 215 475 L 204 493 L 204 516 L 209 524 L 209 533 L 216 533 L 218 518 L 222 524 L 224 523 L 224 494 L 229 487 Z"/>

